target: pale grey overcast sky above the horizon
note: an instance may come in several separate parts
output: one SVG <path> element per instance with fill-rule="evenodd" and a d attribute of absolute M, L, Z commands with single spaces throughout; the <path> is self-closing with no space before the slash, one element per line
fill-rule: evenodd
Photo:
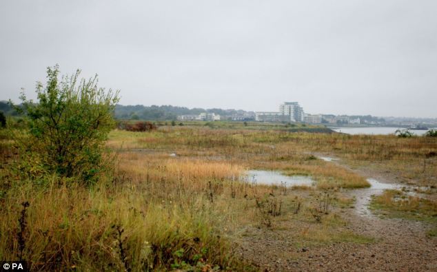
<path fill-rule="evenodd" d="M 47 66 L 123 105 L 437 117 L 437 1 L 0 1 L 0 100 Z"/>

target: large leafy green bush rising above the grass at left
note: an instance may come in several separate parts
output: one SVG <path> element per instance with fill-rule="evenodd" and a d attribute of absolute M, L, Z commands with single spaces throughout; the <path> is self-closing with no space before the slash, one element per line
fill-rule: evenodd
<path fill-rule="evenodd" d="M 37 83 L 38 103 L 22 93 L 21 113 L 29 124 L 31 152 L 43 166 L 64 177 L 96 180 L 101 171 L 104 141 L 114 127 L 112 112 L 119 92 L 98 87 L 97 76 L 79 79 L 80 70 L 59 81 L 59 66 L 48 67 L 47 84 Z"/>

